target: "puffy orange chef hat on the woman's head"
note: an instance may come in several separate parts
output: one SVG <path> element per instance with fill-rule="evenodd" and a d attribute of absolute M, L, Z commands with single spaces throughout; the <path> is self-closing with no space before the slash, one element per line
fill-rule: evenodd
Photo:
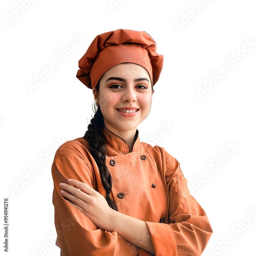
<path fill-rule="evenodd" d="M 163 56 L 156 49 L 156 42 L 145 31 L 118 29 L 97 35 L 78 61 L 76 77 L 93 89 L 112 67 L 135 63 L 147 70 L 154 86 L 163 67 Z"/>

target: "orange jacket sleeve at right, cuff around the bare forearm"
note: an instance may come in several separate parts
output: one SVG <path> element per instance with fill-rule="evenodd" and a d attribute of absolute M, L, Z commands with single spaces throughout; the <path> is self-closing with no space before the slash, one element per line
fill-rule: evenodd
<path fill-rule="evenodd" d="M 179 162 L 173 157 L 168 157 L 167 161 L 165 221 L 146 222 L 156 255 L 201 255 L 212 234 L 211 226 L 205 211 L 189 194 Z"/>

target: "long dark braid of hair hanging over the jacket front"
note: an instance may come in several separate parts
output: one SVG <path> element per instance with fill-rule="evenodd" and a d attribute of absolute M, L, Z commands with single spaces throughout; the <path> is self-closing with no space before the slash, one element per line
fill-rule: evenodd
<path fill-rule="evenodd" d="M 112 209 L 117 210 L 115 202 L 110 198 L 112 177 L 108 167 L 106 166 L 106 144 L 105 136 L 102 132 L 103 126 L 103 116 L 100 108 L 98 107 L 94 118 L 92 118 L 91 123 L 88 125 L 88 130 L 86 134 L 84 134 L 83 138 L 89 142 L 90 153 L 98 165 L 101 181 L 106 190 L 106 202 L 108 202 Z"/>

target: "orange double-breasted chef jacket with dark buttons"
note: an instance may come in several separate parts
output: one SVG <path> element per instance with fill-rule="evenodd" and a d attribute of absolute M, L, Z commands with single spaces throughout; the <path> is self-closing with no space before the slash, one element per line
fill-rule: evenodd
<path fill-rule="evenodd" d="M 201 255 L 212 229 L 205 211 L 189 194 L 179 162 L 162 147 L 140 142 L 133 148 L 103 129 L 106 165 L 112 180 L 111 198 L 118 211 L 145 221 L 157 256 Z M 106 197 L 89 144 L 78 138 L 62 144 L 52 165 L 56 245 L 63 256 L 152 255 L 118 236 L 99 229 L 59 193 L 59 183 L 76 179 Z M 104 214 L 100 218 L 104 218 Z M 143 237 L 138 238 L 143 241 Z"/>

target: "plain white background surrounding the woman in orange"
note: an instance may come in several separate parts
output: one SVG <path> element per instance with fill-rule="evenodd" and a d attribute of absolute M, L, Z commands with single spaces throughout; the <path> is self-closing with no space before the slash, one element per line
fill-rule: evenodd
<path fill-rule="evenodd" d="M 140 137 L 181 163 L 214 230 L 203 255 L 255 255 L 254 1 L 1 5 L 0 164 L 2 201 L 9 198 L 8 255 L 59 255 L 53 245 L 53 155 L 61 143 L 83 136 L 93 114 L 92 92 L 75 77 L 78 60 L 96 35 L 119 28 L 145 30 L 164 55 Z M 44 76 L 52 61 L 55 68 Z M 223 66 L 226 73 L 211 78 Z M 39 75 L 44 81 L 29 89 Z M 215 84 L 200 97 L 198 88 L 210 79 Z"/>

